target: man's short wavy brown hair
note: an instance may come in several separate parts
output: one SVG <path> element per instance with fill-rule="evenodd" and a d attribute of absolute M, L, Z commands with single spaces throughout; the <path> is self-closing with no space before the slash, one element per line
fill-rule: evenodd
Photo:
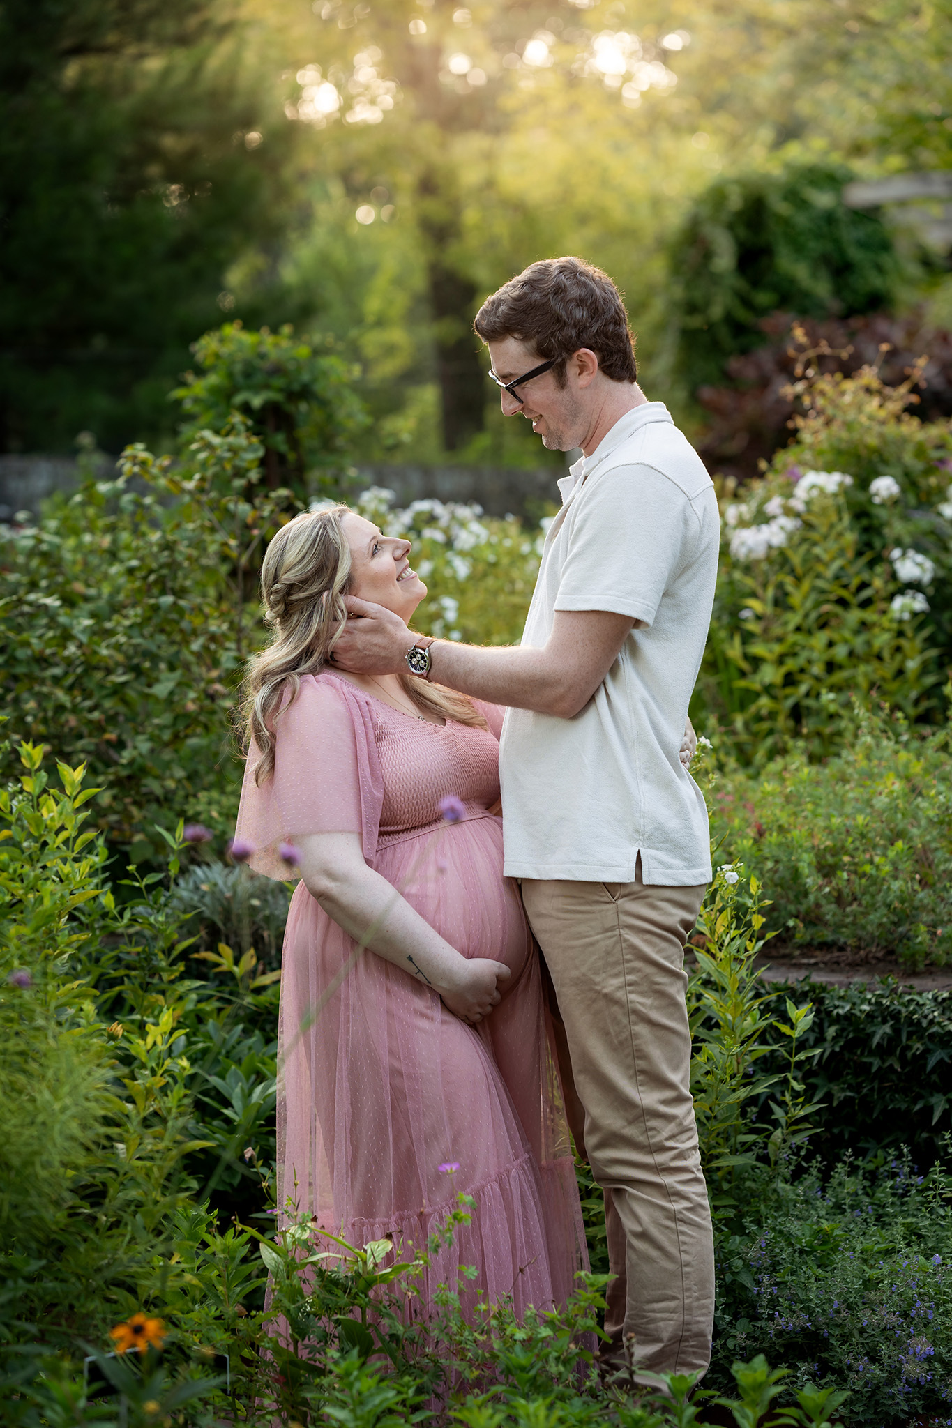
<path fill-rule="evenodd" d="M 542 258 L 487 297 L 474 327 L 484 343 L 530 343 L 565 386 L 565 363 L 588 347 L 612 381 L 637 381 L 635 338 L 621 293 L 601 268 L 581 258 Z"/>

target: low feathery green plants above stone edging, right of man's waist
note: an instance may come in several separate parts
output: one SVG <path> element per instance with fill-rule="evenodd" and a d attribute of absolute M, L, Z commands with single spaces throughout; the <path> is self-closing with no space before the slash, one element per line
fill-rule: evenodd
<path fill-rule="evenodd" d="M 708 791 L 712 837 L 771 890 L 766 930 L 782 944 L 943 962 L 949 727 L 919 734 L 862 711 L 848 727 L 846 745 L 822 764 L 802 748 L 758 774 L 728 765 Z"/>

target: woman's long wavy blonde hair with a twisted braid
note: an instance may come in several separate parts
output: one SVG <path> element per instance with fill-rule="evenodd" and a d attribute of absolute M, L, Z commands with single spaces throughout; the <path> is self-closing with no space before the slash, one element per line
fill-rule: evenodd
<path fill-rule="evenodd" d="M 324 667 L 347 623 L 344 595 L 351 587 L 351 557 L 341 517 L 348 510 L 341 504 L 303 511 L 281 527 L 264 554 L 261 598 L 273 634 L 248 663 L 241 705 L 245 751 L 254 740 L 261 754 L 255 784 L 274 773 L 274 721 L 281 707 L 297 697 L 303 674 Z M 421 713 L 487 727 L 464 694 L 427 684 L 410 671 L 400 675 L 400 683 Z"/>

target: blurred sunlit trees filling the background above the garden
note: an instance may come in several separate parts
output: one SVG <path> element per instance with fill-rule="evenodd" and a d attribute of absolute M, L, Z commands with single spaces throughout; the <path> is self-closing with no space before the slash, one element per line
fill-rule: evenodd
<path fill-rule="evenodd" d="M 168 377 L 223 308 L 337 338 L 364 456 L 538 458 L 470 324 L 567 251 L 619 283 L 677 404 L 691 207 L 791 166 L 952 166 L 951 20 L 952 0 L 0 0 L 0 447 L 171 426 Z"/>

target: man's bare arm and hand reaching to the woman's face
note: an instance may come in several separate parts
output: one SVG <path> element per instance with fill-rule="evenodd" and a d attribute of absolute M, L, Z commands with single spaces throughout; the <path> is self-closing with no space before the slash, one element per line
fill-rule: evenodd
<path fill-rule="evenodd" d="M 351 615 L 361 618 L 348 620 L 334 645 L 334 664 L 354 674 L 405 670 L 407 650 L 418 637 L 400 615 L 354 595 L 345 604 Z M 572 718 L 611 670 L 631 628 L 641 624 L 609 610 L 557 610 L 552 633 L 541 650 L 437 640 L 430 645 L 430 677 L 488 704 Z"/>

